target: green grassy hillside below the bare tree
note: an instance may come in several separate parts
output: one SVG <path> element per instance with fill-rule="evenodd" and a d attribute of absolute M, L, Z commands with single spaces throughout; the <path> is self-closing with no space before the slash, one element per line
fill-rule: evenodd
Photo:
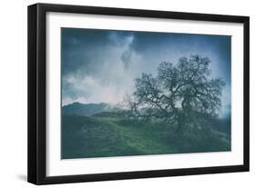
<path fill-rule="evenodd" d="M 115 115 L 63 115 L 62 158 L 230 151 L 230 137 L 214 130 L 130 121 Z"/>

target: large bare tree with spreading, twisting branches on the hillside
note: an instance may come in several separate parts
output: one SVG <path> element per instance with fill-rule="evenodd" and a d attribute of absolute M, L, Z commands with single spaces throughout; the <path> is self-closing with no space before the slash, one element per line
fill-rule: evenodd
<path fill-rule="evenodd" d="M 189 124 L 202 126 L 218 115 L 224 86 L 220 78 L 210 78 L 209 64 L 209 58 L 191 55 L 178 64 L 159 64 L 156 77 L 142 74 L 135 80 L 135 92 L 125 99 L 129 117 L 175 124 L 179 132 Z"/>

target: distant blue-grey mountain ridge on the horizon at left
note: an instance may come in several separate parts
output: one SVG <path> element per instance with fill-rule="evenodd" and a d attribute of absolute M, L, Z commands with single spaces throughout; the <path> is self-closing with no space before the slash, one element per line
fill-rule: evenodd
<path fill-rule="evenodd" d="M 62 106 L 62 114 L 77 114 L 82 116 L 91 116 L 102 112 L 111 112 L 113 107 L 110 104 L 81 104 L 73 103 Z"/>

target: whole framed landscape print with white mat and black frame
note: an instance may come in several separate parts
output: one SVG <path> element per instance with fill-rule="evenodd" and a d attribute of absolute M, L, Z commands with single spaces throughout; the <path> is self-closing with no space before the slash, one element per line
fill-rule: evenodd
<path fill-rule="evenodd" d="M 28 6 L 28 182 L 249 171 L 249 17 Z"/>

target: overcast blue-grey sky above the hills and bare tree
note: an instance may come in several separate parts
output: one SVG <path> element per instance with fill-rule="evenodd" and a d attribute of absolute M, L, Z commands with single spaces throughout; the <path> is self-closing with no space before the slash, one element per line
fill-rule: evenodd
<path fill-rule="evenodd" d="M 222 115 L 230 114 L 230 36 L 97 29 L 61 29 L 62 105 L 117 104 L 133 91 L 141 73 L 156 74 L 163 61 L 182 56 L 210 58 L 212 77 L 226 83 Z"/>

